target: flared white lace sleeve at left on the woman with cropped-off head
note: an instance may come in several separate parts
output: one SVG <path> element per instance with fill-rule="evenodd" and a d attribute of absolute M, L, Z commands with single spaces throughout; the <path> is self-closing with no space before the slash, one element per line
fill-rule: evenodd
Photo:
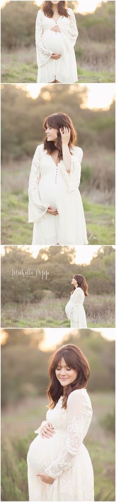
<path fill-rule="evenodd" d="M 37 17 L 36 17 L 36 24 L 35 24 L 35 44 L 36 44 L 36 59 L 37 59 L 37 66 L 42 66 L 43 64 L 47 63 L 48 59 L 51 57 L 52 52 L 47 51 L 45 49 L 44 44 L 42 42 L 42 12 L 41 10 L 38 11 Z"/>

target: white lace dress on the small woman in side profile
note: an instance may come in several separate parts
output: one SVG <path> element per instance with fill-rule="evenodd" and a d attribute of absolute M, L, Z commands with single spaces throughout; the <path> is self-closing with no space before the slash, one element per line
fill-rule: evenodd
<path fill-rule="evenodd" d="M 83 307 L 84 292 L 81 288 L 75 288 L 70 300 L 65 306 L 65 314 L 70 319 L 71 328 L 87 328 L 86 315 Z"/>

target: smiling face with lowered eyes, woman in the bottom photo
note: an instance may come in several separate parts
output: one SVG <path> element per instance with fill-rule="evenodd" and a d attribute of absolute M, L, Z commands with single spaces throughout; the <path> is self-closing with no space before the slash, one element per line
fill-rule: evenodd
<path fill-rule="evenodd" d="M 62 385 L 62 387 L 67 387 L 77 378 L 76 369 L 70 368 L 67 366 L 63 357 L 58 362 L 57 367 L 55 368 L 55 374 L 58 382 Z"/>

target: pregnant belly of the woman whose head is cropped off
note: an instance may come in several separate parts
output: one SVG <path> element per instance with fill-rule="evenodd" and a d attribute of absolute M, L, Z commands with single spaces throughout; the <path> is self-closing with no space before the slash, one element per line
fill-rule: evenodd
<path fill-rule="evenodd" d="M 46 30 L 42 35 L 42 41 L 45 49 L 55 54 L 63 54 L 63 37 L 61 33 L 55 33 L 51 30 Z"/>

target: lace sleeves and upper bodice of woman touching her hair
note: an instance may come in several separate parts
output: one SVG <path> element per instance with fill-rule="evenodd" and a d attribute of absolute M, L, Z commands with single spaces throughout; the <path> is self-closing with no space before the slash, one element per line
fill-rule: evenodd
<path fill-rule="evenodd" d="M 66 183 L 67 191 L 73 191 L 78 188 L 80 183 L 80 173 L 81 173 L 81 159 L 83 152 L 81 148 L 73 147 L 71 156 L 71 168 L 68 174 L 63 161 L 60 160 L 57 165 L 57 169 Z M 29 186 L 28 186 L 28 221 L 35 222 L 40 221 L 41 218 L 46 216 L 46 211 L 48 208 L 47 204 L 43 204 L 40 199 L 39 194 L 39 180 L 42 176 L 45 177 L 48 172 L 54 173 L 54 162 L 50 155 L 47 155 L 47 151 L 43 149 L 43 145 L 39 145 L 36 148 L 31 171 L 29 176 Z"/>

